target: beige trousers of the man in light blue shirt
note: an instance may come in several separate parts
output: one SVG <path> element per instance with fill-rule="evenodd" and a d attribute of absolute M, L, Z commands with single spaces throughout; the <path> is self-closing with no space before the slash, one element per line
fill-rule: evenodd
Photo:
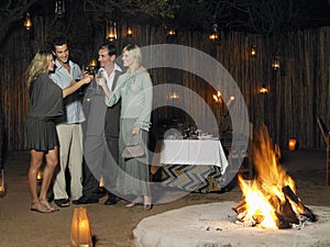
<path fill-rule="evenodd" d="M 70 195 L 77 200 L 82 194 L 82 132 L 80 124 L 57 124 L 59 141 L 59 170 L 53 187 L 54 199 L 68 199 L 65 171 L 70 173 Z"/>

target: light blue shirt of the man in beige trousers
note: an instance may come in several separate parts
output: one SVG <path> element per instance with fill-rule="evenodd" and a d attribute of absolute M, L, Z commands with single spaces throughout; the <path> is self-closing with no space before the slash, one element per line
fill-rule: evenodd
<path fill-rule="evenodd" d="M 58 85 L 62 89 L 70 86 L 72 80 L 81 79 L 82 74 L 80 67 L 69 60 L 70 72 L 63 67 L 59 61 L 55 60 L 56 69 L 54 72 L 50 74 L 51 79 Z M 81 100 L 77 92 L 68 96 L 64 99 L 65 114 L 56 120 L 57 123 L 81 123 L 85 121 L 85 115 L 82 111 Z"/>

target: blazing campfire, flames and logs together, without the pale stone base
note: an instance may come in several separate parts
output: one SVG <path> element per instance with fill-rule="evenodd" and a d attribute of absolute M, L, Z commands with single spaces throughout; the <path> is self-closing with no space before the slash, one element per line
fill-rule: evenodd
<path fill-rule="evenodd" d="M 243 199 L 232 207 L 238 213 L 238 223 L 283 229 L 317 221 L 297 197 L 295 181 L 278 157 L 278 148 L 273 147 L 267 127 L 262 125 L 252 143 L 254 179 L 244 180 L 239 175 Z"/>

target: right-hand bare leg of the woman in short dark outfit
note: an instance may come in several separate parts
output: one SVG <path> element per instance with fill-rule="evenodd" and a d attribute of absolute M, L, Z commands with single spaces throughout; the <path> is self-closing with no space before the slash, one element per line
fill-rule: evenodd
<path fill-rule="evenodd" d="M 46 166 L 43 172 L 43 182 L 40 191 L 40 201 L 48 209 L 54 211 L 55 209 L 52 207 L 47 201 L 47 191 L 50 189 L 50 184 L 54 175 L 54 170 L 58 162 L 58 148 L 55 147 L 52 150 L 48 150 L 46 154 Z"/>

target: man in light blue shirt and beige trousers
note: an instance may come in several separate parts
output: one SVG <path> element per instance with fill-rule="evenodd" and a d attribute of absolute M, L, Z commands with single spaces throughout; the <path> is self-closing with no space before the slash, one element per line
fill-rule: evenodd
<path fill-rule="evenodd" d="M 81 79 L 81 69 L 69 60 L 67 42 L 55 38 L 53 54 L 56 57 L 56 69 L 51 78 L 62 89 L 75 83 L 75 79 Z M 65 114 L 58 119 L 56 130 L 59 139 L 59 171 L 54 182 L 54 201 L 58 206 L 68 206 L 69 198 L 66 190 L 65 171 L 70 172 L 70 194 L 77 200 L 82 194 L 82 132 L 80 123 L 85 121 L 82 105 L 77 93 L 67 97 L 64 101 Z"/>

